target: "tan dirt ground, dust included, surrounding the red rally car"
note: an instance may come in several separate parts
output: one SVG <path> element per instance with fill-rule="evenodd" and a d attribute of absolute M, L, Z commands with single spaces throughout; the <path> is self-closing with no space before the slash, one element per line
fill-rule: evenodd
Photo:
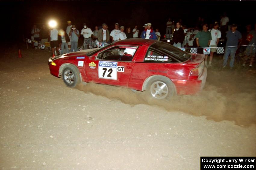
<path fill-rule="evenodd" d="M 2 51 L 1 169 L 200 169 L 200 156 L 255 156 L 255 70 L 208 69 L 172 103 L 106 85 L 67 88 L 48 51 Z M 220 61 L 216 60 L 216 63 Z"/>

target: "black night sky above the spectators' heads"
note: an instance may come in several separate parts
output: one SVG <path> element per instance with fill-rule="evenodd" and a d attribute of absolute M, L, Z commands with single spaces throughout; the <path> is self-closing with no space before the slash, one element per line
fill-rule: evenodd
<path fill-rule="evenodd" d="M 95 25 L 106 23 L 111 31 L 114 23 L 130 26 L 151 22 L 152 26 L 165 34 L 169 17 L 182 19 L 189 27 L 195 26 L 198 16 L 208 24 L 220 22 L 226 11 L 230 23 L 237 23 L 243 31 L 248 23 L 254 24 L 255 1 L 0 1 L 2 27 L 10 34 L 3 34 L 5 42 L 21 41 L 30 37 L 33 24 L 40 27 L 49 19 L 56 19 L 59 28 L 66 28 L 67 20 L 81 31 L 83 23 L 94 30 Z M 5 28 L 5 29 L 6 29 Z M 3 29 L 3 28 L 2 28 Z"/>

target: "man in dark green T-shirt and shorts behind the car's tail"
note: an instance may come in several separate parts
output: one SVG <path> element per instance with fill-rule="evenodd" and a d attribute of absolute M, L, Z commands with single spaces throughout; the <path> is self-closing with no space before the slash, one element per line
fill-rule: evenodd
<path fill-rule="evenodd" d="M 196 44 L 197 47 L 203 47 L 208 48 L 211 42 L 211 33 L 208 31 L 208 24 L 203 25 L 203 30 L 199 31 L 196 36 Z M 203 49 L 198 49 L 198 53 L 203 53 Z M 207 57 L 208 55 L 205 55 L 204 59 L 204 65 L 207 67 Z"/>

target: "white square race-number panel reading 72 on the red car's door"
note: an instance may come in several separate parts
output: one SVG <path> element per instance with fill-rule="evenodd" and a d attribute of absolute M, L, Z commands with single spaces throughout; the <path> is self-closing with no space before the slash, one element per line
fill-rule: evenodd
<path fill-rule="evenodd" d="M 117 80 L 117 62 L 99 61 L 98 76 L 100 79 Z"/>

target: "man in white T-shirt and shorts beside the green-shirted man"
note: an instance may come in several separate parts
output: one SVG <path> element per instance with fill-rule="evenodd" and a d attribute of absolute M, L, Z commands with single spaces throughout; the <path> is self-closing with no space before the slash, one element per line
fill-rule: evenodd
<path fill-rule="evenodd" d="M 219 40 L 220 40 L 220 37 L 221 37 L 221 32 L 220 32 L 220 30 L 218 30 L 218 28 L 219 28 L 219 24 L 218 24 L 218 22 L 215 22 L 214 26 L 213 26 L 213 29 L 211 29 L 211 38 L 212 38 L 212 40 L 210 42 L 209 47 L 217 47 L 217 45 L 219 43 Z M 210 52 L 210 61 L 209 61 L 208 66 L 212 66 L 211 61 L 212 61 L 214 52 L 217 51 L 217 48 L 211 48 L 210 51 L 211 51 Z M 207 58 L 206 58 L 206 60 L 207 60 Z"/>

